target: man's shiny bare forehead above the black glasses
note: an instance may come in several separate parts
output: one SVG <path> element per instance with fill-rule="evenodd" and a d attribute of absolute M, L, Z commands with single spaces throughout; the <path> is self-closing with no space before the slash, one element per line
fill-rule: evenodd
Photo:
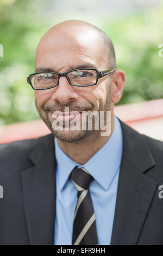
<path fill-rule="evenodd" d="M 103 40 L 93 29 L 75 27 L 54 29 L 40 40 L 36 50 L 37 66 L 54 66 L 58 70 L 72 65 L 92 63 L 97 66 L 105 62 Z"/>

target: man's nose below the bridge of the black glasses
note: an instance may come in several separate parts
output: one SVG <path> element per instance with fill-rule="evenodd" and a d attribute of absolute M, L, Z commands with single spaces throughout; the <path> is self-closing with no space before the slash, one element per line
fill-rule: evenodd
<path fill-rule="evenodd" d="M 68 83 L 66 77 L 60 77 L 57 90 L 52 96 L 53 100 L 59 101 L 61 104 L 66 104 L 70 101 L 78 99 L 78 94 L 74 92 L 73 86 Z"/>

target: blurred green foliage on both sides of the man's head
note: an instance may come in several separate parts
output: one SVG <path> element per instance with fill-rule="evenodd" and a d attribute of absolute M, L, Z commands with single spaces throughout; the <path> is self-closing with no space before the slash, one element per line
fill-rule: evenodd
<path fill-rule="evenodd" d="M 0 125 L 39 118 L 33 90 L 26 77 L 34 71 L 36 46 L 57 20 L 46 22 L 31 0 L 0 0 Z M 118 104 L 163 97 L 163 7 L 143 11 L 102 28 L 115 45 L 117 67 L 126 72 L 126 86 Z M 163 106 L 162 106 L 163 107 Z"/>

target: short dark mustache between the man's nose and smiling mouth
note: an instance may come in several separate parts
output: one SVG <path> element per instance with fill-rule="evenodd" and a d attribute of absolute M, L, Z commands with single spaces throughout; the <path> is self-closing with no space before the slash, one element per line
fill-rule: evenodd
<path fill-rule="evenodd" d="M 82 112 L 82 111 L 91 111 L 93 109 L 93 105 L 89 105 L 89 106 L 80 106 L 80 105 L 74 105 L 74 104 L 66 104 L 66 105 L 61 105 L 61 104 L 55 104 L 52 106 L 43 106 L 43 110 L 44 111 L 60 111 L 60 112 L 65 112 L 65 107 L 69 107 L 69 112 L 72 111 L 78 111 L 78 112 Z"/>

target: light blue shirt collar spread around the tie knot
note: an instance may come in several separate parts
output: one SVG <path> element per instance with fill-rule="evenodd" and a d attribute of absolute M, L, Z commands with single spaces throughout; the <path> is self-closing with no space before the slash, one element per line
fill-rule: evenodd
<path fill-rule="evenodd" d="M 108 190 L 120 167 L 123 147 L 123 136 L 120 121 L 114 116 L 114 131 L 109 140 L 97 151 L 95 155 L 87 161 L 83 167 L 93 176 L 93 178 Z M 70 173 L 76 166 L 82 167 L 79 163 L 68 157 L 59 147 L 55 140 L 55 156 L 57 159 L 57 175 L 60 191 L 64 188 Z"/>

